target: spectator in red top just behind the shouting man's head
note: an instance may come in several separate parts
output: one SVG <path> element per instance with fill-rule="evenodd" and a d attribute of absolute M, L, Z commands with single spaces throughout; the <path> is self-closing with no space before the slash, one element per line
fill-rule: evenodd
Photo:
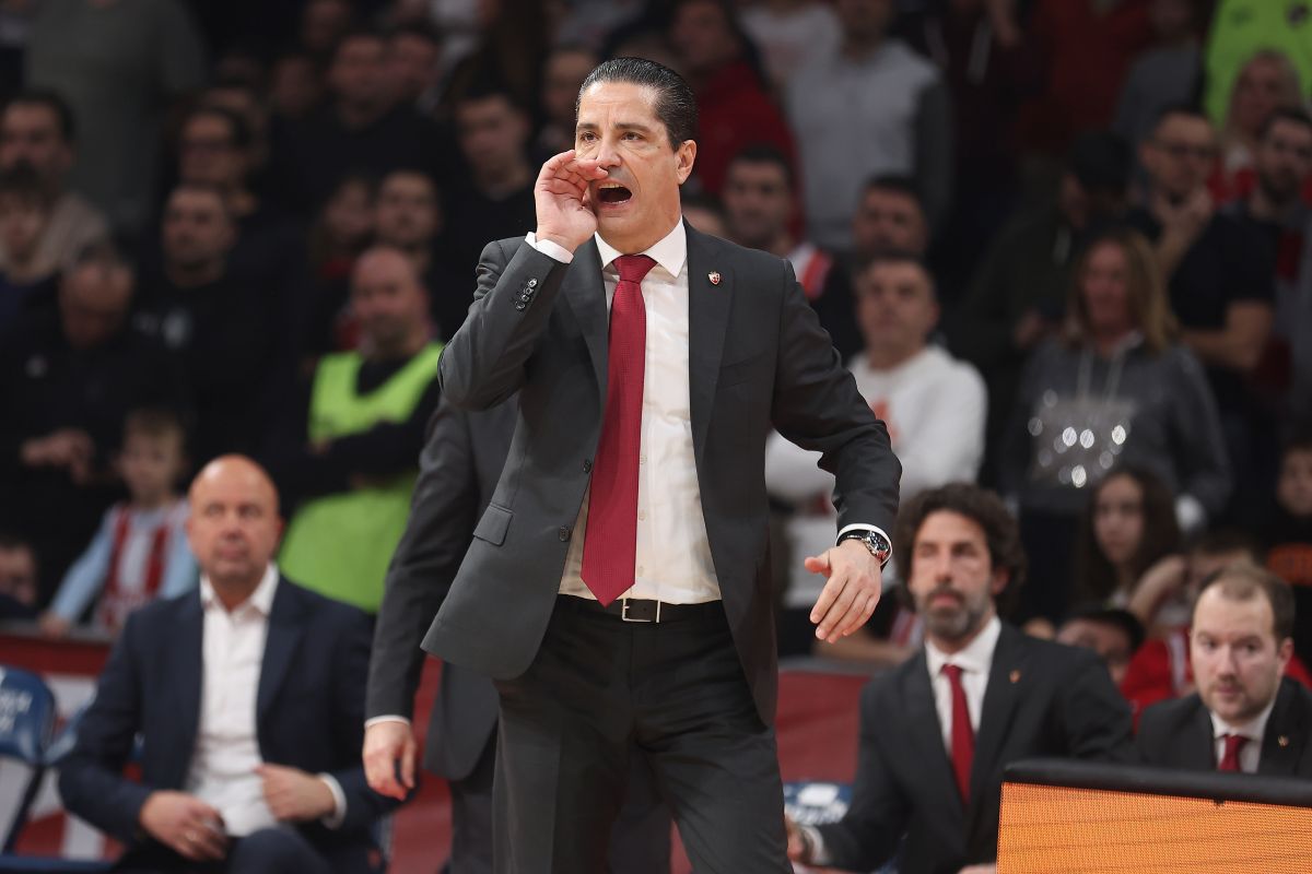
<path fill-rule="evenodd" d="M 729 161 L 749 144 L 769 143 L 791 159 L 792 134 L 727 0 L 676 0 L 669 42 L 697 94 L 693 173 L 703 190 L 719 197 Z"/>

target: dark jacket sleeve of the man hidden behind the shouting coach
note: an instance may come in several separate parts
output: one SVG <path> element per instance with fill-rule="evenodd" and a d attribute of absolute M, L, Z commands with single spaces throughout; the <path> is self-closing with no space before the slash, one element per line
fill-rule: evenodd
<path fill-rule="evenodd" d="M 387 569 L 369 663 L 366 718 L 413 717 L 424 667 L 419 645 L 451 590 L 476 522 L 479 491 L 470 443 L 464 414 L 443 400 L 420 455 L 405 533 Z"/>

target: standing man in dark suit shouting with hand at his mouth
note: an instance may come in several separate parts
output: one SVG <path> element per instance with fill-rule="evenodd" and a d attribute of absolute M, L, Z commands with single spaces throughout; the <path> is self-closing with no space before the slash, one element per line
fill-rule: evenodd
<path fill-rule="evenodd" d="M 789 870 L 773 732 L 771 427 L 837 477 L 817 634 L 879 598 L 900 468 L 789 265 L 687 228 L 695 98 L 617 59 L 580 90 L 537 231 L 489 244 L 443 394 L 520 392 L 429 653 L 497 680 L 499 871 L 589 874 L 636 743 L 702 871 Z M 607 316 L 607 308 L 610 313 Z"/>

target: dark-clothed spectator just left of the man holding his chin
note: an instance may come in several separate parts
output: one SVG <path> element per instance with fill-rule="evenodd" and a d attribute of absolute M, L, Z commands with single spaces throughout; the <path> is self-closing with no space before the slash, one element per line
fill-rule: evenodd
<path fill-rule="evenodd" d="M 1086 134 L 1076 139 L 1056 197 L 1002 228 L 947 322 L 953 351 L 988 380 L 987 482 L 997 478 L 1021 368 L 1060 325 L 1071 271 L 1088 241 L 1123 218 L 1130 166 L 1130 149 L 1120 138 Z"/>

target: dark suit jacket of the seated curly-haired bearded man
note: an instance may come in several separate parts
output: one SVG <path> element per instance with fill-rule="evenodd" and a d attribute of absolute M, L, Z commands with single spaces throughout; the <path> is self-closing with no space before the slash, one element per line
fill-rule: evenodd
<path fill-rule="evenodd" d="M 1002 770 L 1021 759 L 1132 757 L 1130 708 L 1088 650 L 1010 625 L 993 650 L 963 805 L 943 747 L 924 649 L 861 694 L 861 746 L 848 815 L 820 826 L 833 866 L 870 871 L 896 852 L 901 870 L 956 874 L 997 858 Z"/>

